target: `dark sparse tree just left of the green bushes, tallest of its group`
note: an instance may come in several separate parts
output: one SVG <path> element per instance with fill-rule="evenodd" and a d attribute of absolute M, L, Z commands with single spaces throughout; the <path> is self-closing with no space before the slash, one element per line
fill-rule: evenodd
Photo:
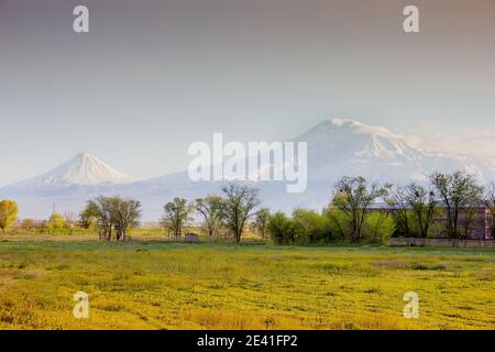
<path fill-rule="evenodd" d="M 257 189 L 228 184 L 222 187 L 222 191 L 226 198 L 221 202 L 220 217 L 239 243 L 245 222 L 254 215 L 254 209 L 260 205 Z"/>

